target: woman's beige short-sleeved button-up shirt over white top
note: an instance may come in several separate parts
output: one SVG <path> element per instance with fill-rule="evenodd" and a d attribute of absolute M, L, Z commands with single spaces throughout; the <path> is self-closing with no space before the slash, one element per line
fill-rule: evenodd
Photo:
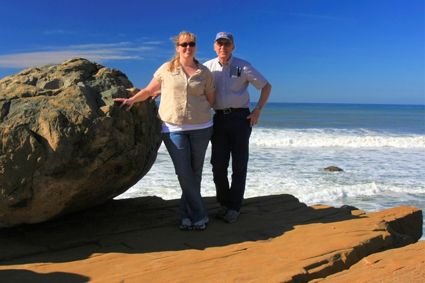
<path fill-rule="evenodd" d="M 216 89 L 211 71 L 198 63 L 199 69 L 187 78 L 181 66 L 175 72 L 169 72 L 168 64 L 164 63 L 153 75 L 161 82 L 159 118 L 178 125 L 210 122 L 211 106 L 205 94 Z"/>

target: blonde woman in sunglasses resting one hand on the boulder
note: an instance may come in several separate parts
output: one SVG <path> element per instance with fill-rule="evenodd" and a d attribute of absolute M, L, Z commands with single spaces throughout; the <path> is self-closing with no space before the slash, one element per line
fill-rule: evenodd
<path fill-rule="evenodd" d="M 158 116 L 162 139 L 182 188 L 181 229 L 203 230 L 208 213 L 201 197 L 202 168 L 212 135 L 210 109 L 215 83 L 211 72 L 195 59 L 196 36 L 182 31 L 172 38 L 176 55 L 154 73 L 149 85 L 130 99 L 115 98 L 130 110 L 135 102 L 155 97 L 161 88 Z"/>

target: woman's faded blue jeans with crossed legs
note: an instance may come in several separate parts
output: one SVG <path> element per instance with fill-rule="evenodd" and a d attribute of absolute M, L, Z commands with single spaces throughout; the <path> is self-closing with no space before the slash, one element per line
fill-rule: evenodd
<path fill-rule="evenodd" d="M 202 168 L 212 127 L 200 130 L 162 133 L 182 188 L 180 217 L 192 222 L 208 215 L 201 197 Z"/>

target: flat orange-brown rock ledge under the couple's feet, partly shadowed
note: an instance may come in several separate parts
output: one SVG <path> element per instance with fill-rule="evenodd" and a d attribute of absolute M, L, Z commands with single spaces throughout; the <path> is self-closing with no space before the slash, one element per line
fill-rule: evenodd
<path fill-rule="evenodd" d="M 404 266 L 399 278 L 403 270 L 423 278 L 423 241 L 422 248 L 380 253 L 403 245 L 400 238 L 417 238 L 419 209 L 365 214 L 308 207 L 283 194 L 245 199 L 238 221 L 226 224 L 212 218 L 219 206 L 215 198 L 204 201 L 210 223 L 201 232 L 181 231 L 179 199 L 158 197 L 114 199 L 48 222 L 0 230 L 0 281 L 327 282 L 327 276 L 347 270 L 345 282 L 357 282 L 358 274 L 350 277 L 349 268 L 365 259 L 378 267 L 376 253 L 412 258 L 386 266 Z M 409 226 L 399 231 L 413 232 L 396 232 L 387 217 Z M 418 267 L 406 269 L 413 262 Z M 389 273 L 380 274 L 382 282 L 391 282 L 385 280 Z"/>

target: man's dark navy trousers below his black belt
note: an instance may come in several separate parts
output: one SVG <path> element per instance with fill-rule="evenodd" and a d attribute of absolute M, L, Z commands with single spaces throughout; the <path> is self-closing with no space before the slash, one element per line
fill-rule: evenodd
<path fill-rule="evenodd" d="M 249 109 L 228 114 L 214 114 L 211 137 L 212 176 L 216 185 L 217 201 L 230 210 L 240 211 L 245 193 L 248 168 Z M 227 169 L 232 156 L 232 183 L 229 185 Z"/>

